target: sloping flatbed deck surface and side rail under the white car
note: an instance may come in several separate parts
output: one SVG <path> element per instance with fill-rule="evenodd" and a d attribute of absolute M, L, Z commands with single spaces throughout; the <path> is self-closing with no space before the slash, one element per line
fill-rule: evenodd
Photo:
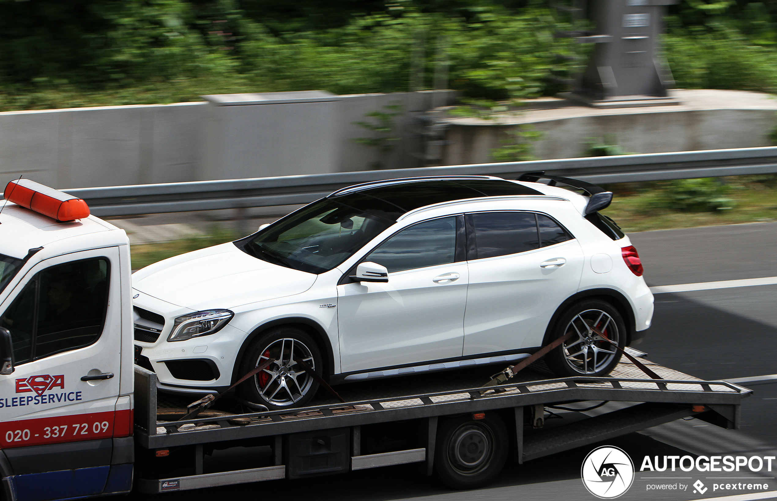
<path fill-rule="evenodd" d="M 493 386 L 481 395 L 480 385 L 496 371 L 496 366 L 490 366 L 338 385 L 336 391 L 346 404 L 320 390 L 312 406 L 299 409 L 159 422 L 155 413 L 145 410 L 157 409 L 157 392 L 152 390 L 155 375 L 136 367 L 136 388 L 146 390 L 138 391 L 136 437 L 143 447 L 175 447 L 575 400 L 737 406 L 751 392 L 729 382 L 706 382 L 650 361 L 643 363 L 664 379 L 647 378 L 629 361 L 618 364 L 608 378 L 548 378 L 526 369 L 506 385 Z M 140 401 L 143 395 L 145 402 Z M 164 412 L 163 405 L 159 412 Z"/>

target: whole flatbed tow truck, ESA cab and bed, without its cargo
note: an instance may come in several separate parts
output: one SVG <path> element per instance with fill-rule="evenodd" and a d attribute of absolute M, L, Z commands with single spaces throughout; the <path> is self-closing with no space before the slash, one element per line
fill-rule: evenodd
<path fill-rule="evenodd" d="M 9 501 L 175 492 L 406 463 L 467 487 L 469 473 L 497 475 L 508 454 L 523 463 L 688 416 L 737 428 L 741 399 L 751 393 L 644 360 L 661 379 L 624 360 L 606 378 L 552 378 L 532 366 L 484 389 L 506 363 L 493 360 L 339 385 L 345 403 L 319 390 L 311 406 L 267 411 L 227 395 L 215 409 L 181 419 L 191 397 L 158 392 L 155 373 L 134 364 L 126 234 L 89 216 L 83 201 L 27 186 L 27 202 L 5 202 L 0 212 L 0 475 Z M 64 276 L 50 272 L 74 266 L 105 282 L 100 323 L 45 330 L 44 310 L 62 297 L 51 288 Z M 86 306 L 94 290 L 81 296 Z M 22 327 L 19 304 L 31 312 L 31 327 Z M 470 422 L 486 433 L 466 435 L 462 447 L 451 423 Z M 231 451 L 242 451 L 241 459 L 220 461 Z"/>

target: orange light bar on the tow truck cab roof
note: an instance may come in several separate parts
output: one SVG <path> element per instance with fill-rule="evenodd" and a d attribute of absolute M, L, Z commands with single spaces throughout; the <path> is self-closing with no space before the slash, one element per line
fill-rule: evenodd
<path fill-rule="evenodd" d="M 57 221 L 72 221 L 89 216 L 82 199 L 29 179 L 15 179 L 5 186 L 5 199 Z"/>

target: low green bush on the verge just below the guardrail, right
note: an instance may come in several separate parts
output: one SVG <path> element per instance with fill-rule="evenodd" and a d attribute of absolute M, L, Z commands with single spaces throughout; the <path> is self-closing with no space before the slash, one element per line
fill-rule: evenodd
<path fill-rule="evenodd" d="M 675 179 L 658 183 L 653 195 L 643 200 L 642 212 L 672 209 L 683 212 L 723 212 L 736 206 L 729 198 L 730 185 L 718 178 Z"/>

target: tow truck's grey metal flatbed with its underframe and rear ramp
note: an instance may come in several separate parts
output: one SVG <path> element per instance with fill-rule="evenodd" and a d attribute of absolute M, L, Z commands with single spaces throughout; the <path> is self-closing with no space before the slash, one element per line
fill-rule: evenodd
<path fill-rule="evenodd" d="M 608 378 L 549 378 L 542 369 L 527 368 L 505 385 L 483 389 L 481 385 L 489 376 L 503 368 L 492 365 L 336 386 L 346 403 L 338 403 L 319 390 L 313 404 L 304 408 L 181 421 L 158 420 L 157 413 L 169 414 L 171 406 L 180 411 L 191 398 L 158 393 L 155 374 L 136 366 L 136 444 L 149 454 L 190 451 L 183 454 L 193 458 L 189 474 L 154 472 L 141 476 L 138 485 L 141 492 L 166 492 L 301 478 L 309 473 L 294 463 L 291 450 L 300 440 L 317 440 L 316 434 L 332 434 L 344 444 L 339 469 L 329 472 L 425 462 L 430 475 L 438 420 L 468 413 L 495 412 L 501 416 L 511 428 L 510 447 L 517 452 L 519 463 L 688 416 L 720 427 L 738 427 L 740 402 L 750 395 L 750 389 L 730 382 L 702 381 L 646 360 L 643 363 L 663 379 L 647 378 L 636 365 L 622 361 Z M 586 401 L 606 401 L 608 405 L 593 413 L 575 412 L 573 419 L 554 420 L 545 426 L 549 406 Z M 396 423 L 402 423 L 413 440 L 403 447 L 384 447 L 378 453 L 364 451 L 364 433 Z M 257 443 L 272 450 L 272 460 L 265 465 L 204 473 L 204 451 L 209 448 Z"/>

